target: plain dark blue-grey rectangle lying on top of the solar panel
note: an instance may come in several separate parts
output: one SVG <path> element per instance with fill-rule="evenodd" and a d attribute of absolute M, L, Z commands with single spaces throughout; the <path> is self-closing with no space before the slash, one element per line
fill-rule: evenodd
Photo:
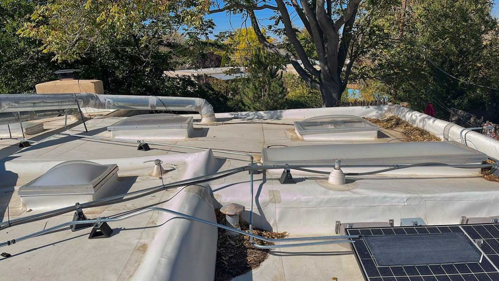
<path fill-rule="evenodd" d="M 464 233 L 366 236 L 364 241 L 380 266 L 478 262 L 482 256 Z"/>

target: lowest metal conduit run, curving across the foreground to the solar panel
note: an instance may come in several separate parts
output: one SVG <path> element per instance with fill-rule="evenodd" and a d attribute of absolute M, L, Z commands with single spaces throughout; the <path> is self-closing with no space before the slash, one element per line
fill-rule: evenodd
<path fill-rule="evenodd" d="M 138 211 L 135 211 L 135 212 L 131 212 L 131 213 L 128 213 L 128 214 L 124 214 L 124 215 L 112 217 L 112 218 L 111 217 L 104 217 L 104 218 L 97 217 L 95 219 L 86 219 L 86 220 L 76 220 L 76 221 L 64 222 L 64 223 L 61 223 L 61 224 L 58 224 L 58 225 L 55 225 L 55 226 L 52 226 L 52 227 L 49 227 L 49 228 L 46 228 L 46 229 L 34 232 L 34 233 L 31 233 L 31 234 L 28 234 L 28 235 L 25 235 L 25 236 L 19 237 L 17 239 L 7 240 L 6 242 L 0 243 L 0 247 L 8 246 L 8 245 L 11 245 L 11 244 L 15 244 L 16 242 L 19 242 L 19 241 L 22 241 L 22 240 L 25 240 L 25 239 L 29 239 L 29 238 L 32 238 L 32 237 L 36 237 L 36 236 L 42 235 L 44 233 L 48 233 L 48 232 L 51 232 L 53 230 L 59 229 L 59 228 L 64 227 L 64 226 L 69 226 L 69 225 L 73 225 L 73 224 L 86 224 L 86 223 L 100 223 L 100 222 L 119 221 L 119 220 L 124 220 L 124 219 L 130 218 L 130 217 L 133 217 L 133 216 L 136 216 L 136 215 L 140 215 L 140 214 L 143 214 L 143 213 L 146 213 L 146 212 L 151 212 L 151 211 L 161 211 L 161 212 L 171 213 L 171 214 L 174 214 L 176 216 L 180 216 L 180 217 L 187 218 L 187 219 L 190 219 L 190 220 L 194 220 L 194 221 L 202 222 L 202 223 L 209 224 L 209 225 L 212 225 L 212 226 L 220 227 L 220 228 L 223 228 L 223 229 L 226 229 L 226 230 L 229 230 L 229 231 L 234 231 L 234 232 L 242 234 L 242 235 L 250 236 L 251 238 L 263 240 L 263 241 L 266 241 L 266 242 L 272 242 L 272 243 L 275 243 L 275 242 L 292 242 L 292 241 L 309 241 L 309 240 L 329 240 L 329 241 L 319 241 L 319 242 L 316 241 L 316 242 L 307 242 L 307 243 L 292 243 L 292 244 L 284 244 L 284 245 L 268 245 L 268 246 L 270 246 L 270 248 L 297 247 L 297 246 L 306 246 L 306 245 L 334 244 L 334 243 L 353 243 L 354 241 L 348 240 L 348 239 L 360 237 L 360 235 L 341 235 L 341 236 L 293 237 L 293 238 L 277 238 L 277 239 L 266 238 L 266 237 L 255 235 L 253 233 L 248 233 L 246 231 L 243 231 L 243 230 L 240 230 L 240 229 L 237 229 L 237 228 L 233 228 L 233 227 L 230 227 L 230 226 L 227 226 L 227 225 L 223 225 L 223 224 L 219 224 L 219 223 L 216 223 L 216 222 L 212 222 L 210 220 L 206 220 L 206 219 L 199 218 L 199 217 L 196 217 L 196 216 L 192 216 L 192 215 L 188 215 L 188 214 L 185 214 L 185 213 L 177 212 L 177 211 L 174 211 L 174 210 L 171 210 L 171 209 L 160 208 L 160 207 L 150 207 L 150 208 L 138 210 Z M 341 240 L 341 239 L 343 239 L 343 240 Z"/>

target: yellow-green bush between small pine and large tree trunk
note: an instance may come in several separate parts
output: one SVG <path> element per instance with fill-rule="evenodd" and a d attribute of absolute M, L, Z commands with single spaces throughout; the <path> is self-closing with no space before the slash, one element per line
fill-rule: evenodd
<path fill-rule="evenodd" d="M 286 95 L 288 108 L 316 108 L 322 106 L 320 92 L 309 87 L 298 75 L 285 73 L 282 79 L 288 92 Z"/>

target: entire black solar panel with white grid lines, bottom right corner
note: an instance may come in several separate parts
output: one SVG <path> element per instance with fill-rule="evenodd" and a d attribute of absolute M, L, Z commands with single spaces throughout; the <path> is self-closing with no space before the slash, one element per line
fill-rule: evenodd
<path fill-rule="evenodd" d="M 363 271 L 364 278 L 367 281 L 499 281 L 499 223 L 488 224 L 466 224 L 466 225 L 426 225 L 426 226 L 399 226 L 399 227 L 373 227 L 373 228 L 347 228 L 349 235 L 363 235 L 360 238 L 354 238 L 352 244 L 355 256 Z M 449 234 L 455 234 L 453 237 L 453 249 L 463 247 L 461 250 L 471 250 L 465 246 L 463 237 L 468 239 L 469 244 L 474 246 L 473 250 L 480 251 L 481 257 L 476 260 L 473 256 L 473 250 L 470 254 L 465 254 L 454 258 L 460 258 L 460 262 L 450 262 L 446 255 L 445 247 L 451 247 L 442 237 Z M 404 235 L 402 239 L 396 236 Z M 442 235 L 438 237 L 437 235 Z M 466 235 L 466 236 L 464 236 Z M 376 236 L 391 236 L 383 239 L 374 238 Z M 423 237 L 422 239 L 434 239 L 435 247 L 442 248 L 442 259 L 435 260 L 434 257 L 416 257 L 414 258 L 414 248 L 420 247 L 414 236 Z M 483 241 L 479 247 L 475 240 Z M 399 250 L 395 254 L 400 254 L 400 262 L 393 261 L 390 257 L 390 265 L 387 264 L 383 254 L 388 254 L 386 249 L 380 250 L 380 244 L 373 246 L 372 241 L 412 241 L 406 245 L 407 251 Z M 457 245 L 457 243 L 461 243 Z M 427 243 L 431 244 L 431 243 Z M 400 244 L 401 246 L 404 244 Z M 372 248 L 371 248 L 372 247 Z M 428 254 L 434 254 L 435 251 L 428 248 L 422 248 Z M 374 252 L 373 252 L 374 251 Z M 452 253 L 452 250 L 449 251 Z M 454 251 L 456 252 L 456 251 Z M 393 253 L 390 253 L 393 254 Z M 404 256 L 412 255 L 412 256 Z M 412 261 L 411 261 L 412 258 Z M 452 259 L 452 258 L 451 258 Z M 408 262 L 409 260 L 409 262 Z M 424 262 L 431 260 L 431 263 Z M 446 260 L 446 261 L 444 261 Z M 419 261 L 419 262 L 418 262 Z M 408 264 L 411 263 L 411 264 Z"/>

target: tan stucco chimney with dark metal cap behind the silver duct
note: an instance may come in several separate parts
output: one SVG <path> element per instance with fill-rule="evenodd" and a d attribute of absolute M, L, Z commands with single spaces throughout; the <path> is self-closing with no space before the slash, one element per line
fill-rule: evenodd
<path fill-rule="evenodd" d="M 104 94 L 104 85 L 101 80 L 81 80 L 77 77 L 79 69 L 57 70 L 59 80 L 36 84 L 36 93 L 74 93 L 89 92 Z"/>

